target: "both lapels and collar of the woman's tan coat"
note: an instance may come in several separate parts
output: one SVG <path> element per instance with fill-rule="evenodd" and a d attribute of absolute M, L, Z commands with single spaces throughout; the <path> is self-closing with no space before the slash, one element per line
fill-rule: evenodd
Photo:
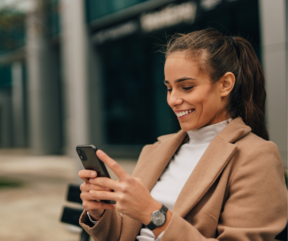
<path fill-rule="evenodd" d="M 182 188 L 173 212 L 184 217 L 199 202 L 234 154 L 236 145 L 233 143 L 250 131 L 241 117 L 237 117 L 214 137 Z M 140 155 L 142 165 L 135 168 L 133 176 L 140 177 L 151 191 L 176 150 L 187 141 L 187 136 L 187 132 L 180 130 L 176 134 L 158 137 L 158 146 L 151 149 L 145 158 Z"/>

